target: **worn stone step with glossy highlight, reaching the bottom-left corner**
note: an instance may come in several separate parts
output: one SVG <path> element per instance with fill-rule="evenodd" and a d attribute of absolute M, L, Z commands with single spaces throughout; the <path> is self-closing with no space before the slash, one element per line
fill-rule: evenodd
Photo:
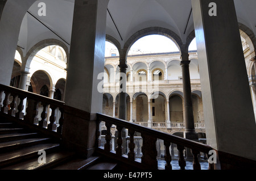
<path fill-rule="evenodd" d="M 69 151 L 58 151 L 56 153 L 46 154 L 46 162 L 39 163 L 38 157 L 28 159 L 15 165 L 7 166 L 1 170 L 46 170 L 67 162 L 73 157 L 74 153 Z"/>

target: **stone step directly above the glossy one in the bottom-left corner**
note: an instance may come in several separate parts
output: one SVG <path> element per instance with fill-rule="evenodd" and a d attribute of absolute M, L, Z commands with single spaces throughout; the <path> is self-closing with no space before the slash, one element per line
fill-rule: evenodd
<path fill-rule="evenodd" d="M 59 148 L 59 144 L 49 143 L 49 144 L 39 144 L 34 146 L 29 146 L 27 148 L 21 148 L 0 155 L 0 168 L 13 165 L 18 162 L 26 161 L 32 157 L 39 157 L 38 151 L 44 150 L 46 153 L 52 153 Z"/>

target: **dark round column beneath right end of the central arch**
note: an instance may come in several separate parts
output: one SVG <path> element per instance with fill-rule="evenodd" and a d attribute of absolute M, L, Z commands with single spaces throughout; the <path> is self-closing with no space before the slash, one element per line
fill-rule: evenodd
<path fill-rule="evenodd" d="M 195 131 L 195 123 L 193 116 L 192 106 L 192 94 L 191 94 L 191 82 L 189 75 L 189 64 L 188 54 L 181 54 L 180 65 L 182 67 L 182 80 L 183 80 L 183 94 L 184 94 L 184 122 L 185 132 L 184 137 L 189 140 L 198 141 L 198 135 Z"/>

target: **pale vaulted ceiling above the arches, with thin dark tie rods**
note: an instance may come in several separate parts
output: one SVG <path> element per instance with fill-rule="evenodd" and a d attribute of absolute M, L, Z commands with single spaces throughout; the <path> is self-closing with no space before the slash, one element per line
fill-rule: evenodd
<path fill-rule="evenodd" d="M 38 15 L 38 3 L 46 3 L 46 16 Z M 26 54 L 39 41 L 57 39 L 69 47 L 75 0 L 40 0 L 30 7 L 20 29 L 18 46 Z M 255 0 L 234 0 L 238 22 L 256 34 Z M 191 0 L 110 0 L 106 33 L 122 45 L 135 32 L 162 27 L 175 32 L 185 43 L 193 31 Z"/>

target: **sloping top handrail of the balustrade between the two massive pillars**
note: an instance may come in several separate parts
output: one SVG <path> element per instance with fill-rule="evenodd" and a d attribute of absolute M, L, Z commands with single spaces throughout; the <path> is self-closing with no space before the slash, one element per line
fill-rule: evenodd
<path fill-rule="evenodd" d="M 128 121 L 117 119 L 117 118 L 114 118 L 114 117 L 111 117 L 108 115 L 104 115 L 101 113 L 97 113 L 97 117 L 98 117 L 98 121 L 104 121 L 105 123 L 114 124 L 114 125 L 117 125 L 118 127 L 122 127 L 122 128 L 126 128 L 126 129 L 133 129 L 134 131 L 140 132 L 142 134 L 143 133 L 150 134 L 151 136 L 154 136 L 160 140 L 170 141 L 174 144 L 183 145 L 186 148 L 201 151 L 203 153 L 209 153 L 209 151 L 213 149 L 209 145 L 201 144 L 200 142 L 187 140 L 185 138 L 181 138 L 181 137 L 178 137 L 175 135 L 160 132 L 155 129 L 146 128 L 146 127 L 143 127 L 142 125 L 130 123 Z"/>

